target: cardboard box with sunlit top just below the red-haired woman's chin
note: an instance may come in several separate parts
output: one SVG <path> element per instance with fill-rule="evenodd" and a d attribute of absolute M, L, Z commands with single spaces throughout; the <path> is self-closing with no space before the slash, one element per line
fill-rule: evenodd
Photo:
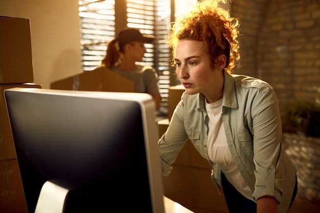
<path fill-rule="evenodd" d="M 179 101 L 181 100 L 182 93 L 186 91 L 185 87 L 182 85 L 170 86 L 169 87 L 169 98 L 168 98 L 168 119 L 171 120 L 173 111 Z"/>

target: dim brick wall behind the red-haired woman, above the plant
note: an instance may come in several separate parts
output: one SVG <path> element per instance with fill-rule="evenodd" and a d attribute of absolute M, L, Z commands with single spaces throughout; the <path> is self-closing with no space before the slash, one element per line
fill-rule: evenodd
<path fill-rule="evenodd" d="M 320 1 L 235 0 L 241 22 L 237 74 L 258 77 L 276 90 L 286 131 L 293 101 L 314 101 L 320 89 Z"/>

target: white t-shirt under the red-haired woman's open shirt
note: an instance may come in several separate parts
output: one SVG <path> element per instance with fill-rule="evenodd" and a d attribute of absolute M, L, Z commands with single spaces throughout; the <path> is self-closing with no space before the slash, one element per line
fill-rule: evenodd
<path fill-rule="evenodd" d="M 210 160 L 220 164 L 221 171 L 226 179 L 241 195 L 254 201 L 252 198 L 253 192 L 240 174 L 226 141 L 221 119 L 222 99 L 210 104 L 205 101 L 205 108 L 209 116 L 208 155 Z"/>

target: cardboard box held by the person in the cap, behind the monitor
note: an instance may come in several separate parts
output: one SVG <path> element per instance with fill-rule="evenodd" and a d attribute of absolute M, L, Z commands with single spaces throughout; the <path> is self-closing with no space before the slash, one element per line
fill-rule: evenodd
<path fill-rule="evenodd" d="M 107 68 L 99 67 L 92 71 L 52 82 L 50 89 L 134 92 L 134 83 Z"/>

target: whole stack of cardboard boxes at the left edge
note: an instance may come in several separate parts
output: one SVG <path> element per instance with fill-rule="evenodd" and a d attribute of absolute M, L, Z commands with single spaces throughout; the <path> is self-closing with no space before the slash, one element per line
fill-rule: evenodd
<path fill-rule="evenodd" d="M 33 82 L 30 20 L 0 16 L 0 212 L 28 212 L 4 90 Z"/>

